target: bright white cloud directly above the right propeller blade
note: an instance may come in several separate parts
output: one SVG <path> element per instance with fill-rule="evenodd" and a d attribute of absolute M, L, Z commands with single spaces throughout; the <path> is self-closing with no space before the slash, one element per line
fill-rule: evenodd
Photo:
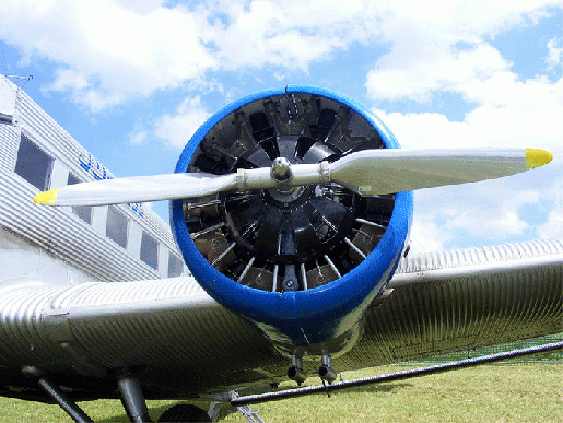
<path fill-rule="evenodd" d="M 506 72 L 501 72 L 501 79 Z M 513 75 L 514 77 L 514 75 Z M 495 79 L 494 77 L 492 77 Z M 503 84 L 474 82 L 467 96 L 480 103 L 461 122 L 439 113 L 401 114 L 374 109 L 403 148 L 520 145 L 559 150 L 563 133 L 563 79 L 537 78 Z"/>

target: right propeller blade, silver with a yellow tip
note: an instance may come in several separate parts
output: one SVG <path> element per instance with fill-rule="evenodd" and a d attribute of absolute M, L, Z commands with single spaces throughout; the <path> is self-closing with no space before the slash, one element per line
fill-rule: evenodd
<path fill-rule="evenodd" d="M 549 163 L 539 149 L 364 150 L 330 165 L 330 180 L 364 196 L 474 183 Z"/>

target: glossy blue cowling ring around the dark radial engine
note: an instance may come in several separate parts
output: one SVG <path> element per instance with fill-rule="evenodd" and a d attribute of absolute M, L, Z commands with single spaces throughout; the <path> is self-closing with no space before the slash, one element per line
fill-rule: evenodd
<path fill-rule="evenodd" d="M 184 173 L 196 149 L 211 128 L 230 114 L 256 101 L 273 96 L 312 94 L 330 98 L 353 109 L 376 130 L 386 148 L 399 148 L 390 131 L 370 110 L 335 92 L 293 86 L 271 90 L 242 98 L 212 116 L 186 145 L 176 165 Z M 183 201 L 171 207 L 171 221 L 184 259 L 201 286 L 220 304 L 256 322 L 280 351 L 293 354 L 341 354 L 359 340 L 360 320 L 370 304 L 390 280 L 404 250 L 412 220 L 412 195 L 399 192 L 389 225 L 377 247 L 357 267 L 337 281 L 305 291 L 267 292 L 242 285 L 215 270 L 199 252 L 185 223 Z M 274 242 L 274 240 L 272 240 Z"/>

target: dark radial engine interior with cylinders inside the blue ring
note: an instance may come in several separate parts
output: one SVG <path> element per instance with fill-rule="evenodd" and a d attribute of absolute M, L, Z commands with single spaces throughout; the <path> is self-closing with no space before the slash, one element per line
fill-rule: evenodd
<path fill-rule="evenodd" d="M 327 97 L 286 94 L 248 103 L 200 142 L 188 172 L 215 175 L 291 164 L 332 162 L 384 149 L 356 111 Z M 382 238 L 394 195 L 361 197 L 337 184 L 220 193 L 184 200 L 199 251 L 226 277 L 266 291 L 327 284 L 357 266 Z"/>

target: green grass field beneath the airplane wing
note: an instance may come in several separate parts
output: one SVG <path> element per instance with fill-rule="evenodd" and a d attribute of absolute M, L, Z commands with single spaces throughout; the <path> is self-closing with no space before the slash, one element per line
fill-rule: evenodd
<path fill-rule="evenodd" d="M 403 366 L 349 372 L 344 379 Z M 307 380 L 312 384 L 318 380 Z M 283 388 L 293 386 L 286 384 Z M 244 392 L 242 392 L 244 393 Z M 177 402 L 177 401 L 176 401 Z M 154 421 L 175 401 L 149 401 Z M 202 407 L 207 407 L 204 403 Z M 96 422 L 128 422 L 117 400 L 82 402 Z M 335 392 L 253 406 L 268 423 L 306 422 L 561 422 L 563 365 L 484 365 Z M 223 406 L 220 422 L 247 422 Z M 57 406 L 0 398 L 0 422 L 71 421 Z"/>

